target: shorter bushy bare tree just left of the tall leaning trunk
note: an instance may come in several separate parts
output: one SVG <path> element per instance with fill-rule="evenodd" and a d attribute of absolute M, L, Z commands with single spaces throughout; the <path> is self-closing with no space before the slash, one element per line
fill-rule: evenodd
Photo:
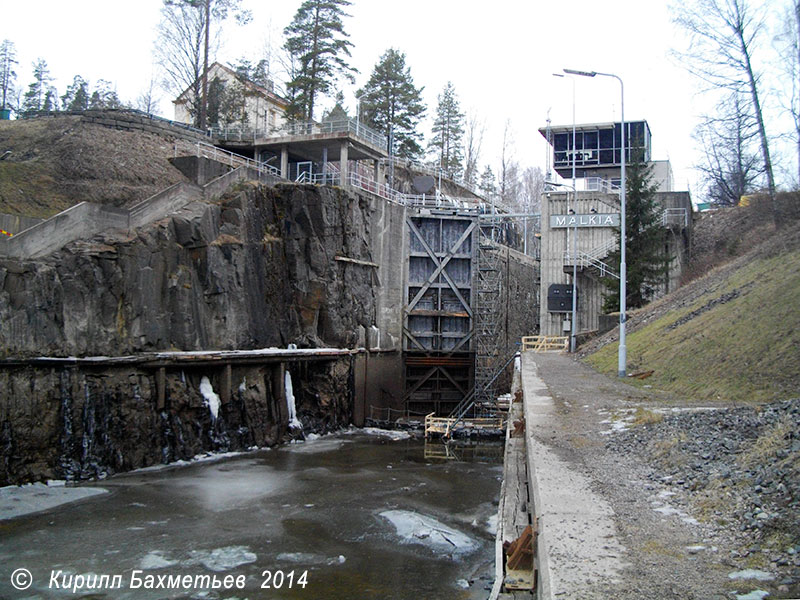
<path fill-rule="evenodd" d="M 720 205 L 735 205 L 763 183 L 764 163 L 758 153 L 758 128 L 750 104 L 737 92 L 717 106 L 695 131 L 704 160 L 696 167 L 706 180 L 708 196 Z"/>

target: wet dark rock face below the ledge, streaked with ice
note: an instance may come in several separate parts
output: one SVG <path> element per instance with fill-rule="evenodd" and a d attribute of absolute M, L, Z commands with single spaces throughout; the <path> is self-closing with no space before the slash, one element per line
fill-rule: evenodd
<path fill-rule="evenodd" d="M 349 358 L 288 368 L 307 431 L 351 422 Z M 279 368 L 234 367 L 233 393 L 216 419 L 200 392 L 203 377 L 220 390 L 213 368 L 168 371 L 159 409 L 152 370 L 0 370 L 0 486 L 103 478 L 205 451 L 272 446 L 290 433 L 285 400 L 275 393 L 283 385 Z"/>

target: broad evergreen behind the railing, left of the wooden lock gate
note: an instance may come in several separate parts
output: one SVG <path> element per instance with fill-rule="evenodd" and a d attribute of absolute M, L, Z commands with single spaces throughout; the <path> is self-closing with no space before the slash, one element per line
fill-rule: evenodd
<path fill-rule="evenodd" d="M 414 86 L 406 55 L 389 48 L 373 68 L 367 84 L 356 92 L 361 98 L 362 119 L 387 138 L 391 131 L 391 155 L 417 158 L 422 153 L 422 135 L 417 132 L 417 124 L 425 114 L 422 90 Z"/>

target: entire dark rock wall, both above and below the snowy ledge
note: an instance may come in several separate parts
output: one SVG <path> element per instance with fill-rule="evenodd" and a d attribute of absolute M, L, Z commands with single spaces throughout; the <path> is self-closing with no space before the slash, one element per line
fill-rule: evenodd
<path fill-rule="evenodd" d="M 338 188 L 243 184 L 134 232 L 109 232 L 37 261 L 0 264 L 6 357 L 153 350 L 355 347 L 375 324 L 370 207 Z M 306 430 L 352 422 L 351 359 L 288 363 Z M 287 410 L 272 365 L 233 365 L 213 419 L 203 376 L 168 368 L 0 369 L 0 485 L 85 479 L 281 441 Z"/>

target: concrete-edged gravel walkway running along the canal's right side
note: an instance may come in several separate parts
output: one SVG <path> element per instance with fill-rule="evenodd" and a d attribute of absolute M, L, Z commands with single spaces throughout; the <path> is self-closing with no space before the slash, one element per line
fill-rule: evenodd
<path fill-rule="evenodd" d="M 522 386 L 540 598 L 729 598 L 722 550 L 693 553 L 703 527 L 656 511 L 649 468 L 605 447 L 614 413 L 673 399 L 563 354 L 523 353 Z"/>

